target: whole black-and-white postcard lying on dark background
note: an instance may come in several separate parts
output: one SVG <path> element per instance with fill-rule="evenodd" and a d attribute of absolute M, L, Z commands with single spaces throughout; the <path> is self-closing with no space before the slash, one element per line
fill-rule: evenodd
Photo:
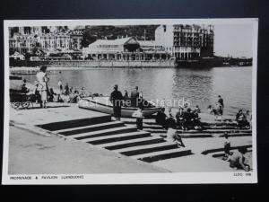
<path fill-rule="evenodd" d="M 256 183 L 257 27 L 4 21 L 3 184 Z"/>

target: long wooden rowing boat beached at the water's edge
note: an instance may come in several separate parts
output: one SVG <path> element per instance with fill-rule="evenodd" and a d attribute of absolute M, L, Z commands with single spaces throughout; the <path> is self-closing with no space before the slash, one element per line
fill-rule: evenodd
<path fill-rule="evenodd" d="M 158 112 L 161 108 L 156 107 L 152 102 L 148 101 L 150 105 L 148 107 L 143 108 L 143 116 L 148 117 L 156 112 Z M 107 114 L 113 114 L 113 106 L 111 101 L 109 101 L 109 97 L 87 97 L 82 98 L 78 102 L 79 108 L 86 110 L 95 110 L 100 111 Z M 121 117 L 131 118 L 134 114 L 134 111 L 138 110 L 135 107 L 126 107 L 122 106 L 121 108 Z"/>

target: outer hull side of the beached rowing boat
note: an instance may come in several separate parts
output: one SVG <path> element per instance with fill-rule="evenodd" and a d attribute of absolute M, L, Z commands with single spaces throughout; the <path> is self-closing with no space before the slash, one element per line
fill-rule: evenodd
<path fill-rule="evenodd" d="M 94 99 L 82 99 L 78 102 L 78 106 L 81 109 L 85 110 L 94 110 L 99 111 L 106 114 L 113 115 L 113 106 L 109 103 L 100 103 Z M 158 112 L 161 108 L 153 107 L 153 108 L 145 108 L 143 109 L 143 116 L 148 117 L 152 114 Z M 121 117 L 123 118 L 132 118 L 134 111 L 138 110 L 138 108 L 131 108 L 131 107 L 122 107 L 121 108 Z"/>

